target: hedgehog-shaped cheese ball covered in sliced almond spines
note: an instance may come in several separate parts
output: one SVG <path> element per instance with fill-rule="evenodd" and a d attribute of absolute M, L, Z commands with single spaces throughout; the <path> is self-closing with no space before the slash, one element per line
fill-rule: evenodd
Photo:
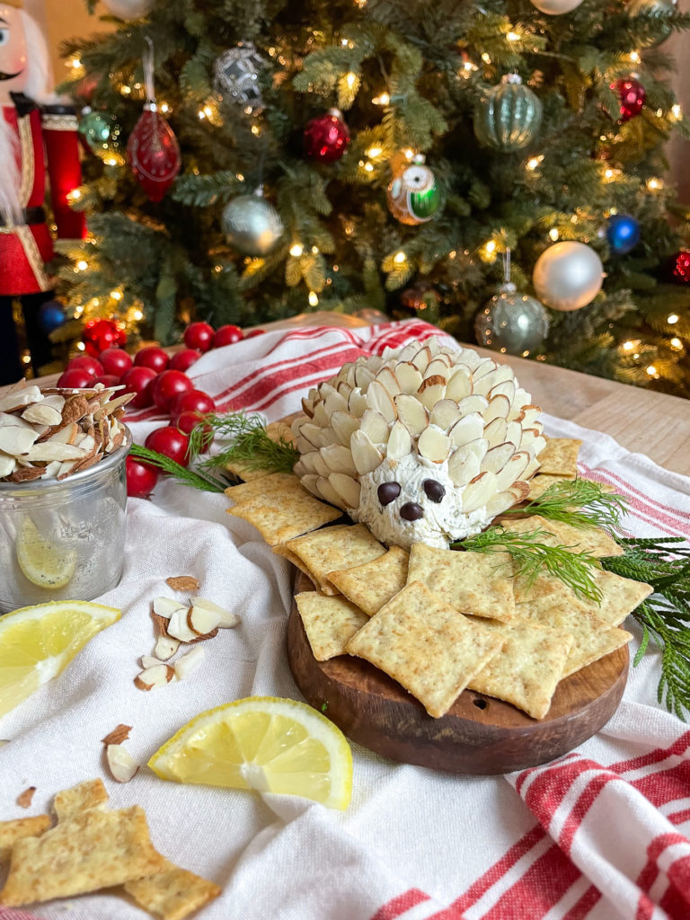
<path fill-rule="evenodd" d="M 508 365 L 438 339 L 345 364 L 302 406 L 305 489 L 405 549 L 478 534 L 527 495 L 546 444 Z"/>

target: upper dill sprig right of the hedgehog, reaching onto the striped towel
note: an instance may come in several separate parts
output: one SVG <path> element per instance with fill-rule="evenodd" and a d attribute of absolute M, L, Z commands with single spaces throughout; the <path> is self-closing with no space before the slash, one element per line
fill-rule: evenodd
<path fill-rule="evenodd" d="M 569 523 L 572 527 L 602 527 L 609 532 L 620 531 L 627 513 L 627 499 L 615 492 L 606 492 L 598 482 L 573 479 L 549 486 L 538 499 L 523 508 L 506 514 L 540 514 L 549 521 Z"/>

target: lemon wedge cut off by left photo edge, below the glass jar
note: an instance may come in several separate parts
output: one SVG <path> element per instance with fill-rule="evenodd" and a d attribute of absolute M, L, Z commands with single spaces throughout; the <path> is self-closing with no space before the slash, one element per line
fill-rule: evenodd
<path fill-rule="evenodd" d="M 120 611 L 86 601 L 52 601 L 0 616 L 0 716 L 61 673 Z"/>

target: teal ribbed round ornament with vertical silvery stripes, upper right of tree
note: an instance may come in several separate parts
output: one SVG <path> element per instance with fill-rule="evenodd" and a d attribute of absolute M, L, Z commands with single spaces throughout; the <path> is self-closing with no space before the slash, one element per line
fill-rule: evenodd
<path fill-rule="evenodd" d="M 542 104 L 517 74 L 506 74 L 477 103 L 474 129 L 477 141 L 507 153 L 534 141 L 542 123 Z"/>

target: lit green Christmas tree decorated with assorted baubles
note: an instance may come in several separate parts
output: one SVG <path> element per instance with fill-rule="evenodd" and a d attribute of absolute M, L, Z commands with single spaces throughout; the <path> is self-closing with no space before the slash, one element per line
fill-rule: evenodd
<path fill-rule="evenodd" d="M 64 49 L 91 153 L 58 339 L 372 307 L 690 396 L 671 0 L 107 6 Z"/>

